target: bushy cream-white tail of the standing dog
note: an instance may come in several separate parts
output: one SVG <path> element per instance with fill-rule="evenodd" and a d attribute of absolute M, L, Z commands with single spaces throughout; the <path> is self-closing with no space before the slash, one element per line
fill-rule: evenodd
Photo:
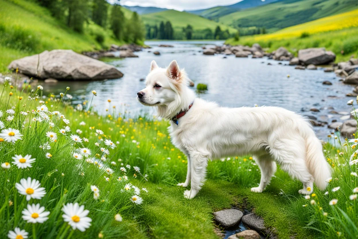
<path fill-rule="evenodd" d="M 316 186 L 320 190 L 324 190 L 327 186 L 327 179 L 331 177 L 331 169 L 324 158 L 322 144 L 313 130 L 307 135 L 305 140 L 308 171 L 313 175 Z"/>

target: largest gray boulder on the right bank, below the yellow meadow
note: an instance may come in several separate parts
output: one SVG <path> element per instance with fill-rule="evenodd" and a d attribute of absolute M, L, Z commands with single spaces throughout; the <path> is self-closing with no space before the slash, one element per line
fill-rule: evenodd
<path fill-rule="evenodd" d="M 326 51 L 325 48 L 308 48 L 298 51 L 298 59 L 305 65 L 314 64 L 321 65 L 333 62 L 335 54 L 331 51 Z"/>

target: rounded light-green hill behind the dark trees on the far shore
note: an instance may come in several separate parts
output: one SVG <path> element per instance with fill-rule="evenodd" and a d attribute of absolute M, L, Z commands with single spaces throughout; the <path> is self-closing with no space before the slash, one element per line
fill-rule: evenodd
<path fill-rule="evenodd" d="M 228 29 L 230 33 L 237 32 L 237 30 L 232 27 L 205 19 L 195 14 L 187 13 L 185 11 L 167 10 L 158 13 L 144 14 L 141 15 L 141 18 L 143 19 L 144 24 L 156 24 L 158 27 L 161 21 L 164 21 L 164 23 L 165 21 L 170 21 L 176 31 L 182 31 L 183 27 L 185 28 L 188 24 L 190 24 L 194 30 L 204 30 L 205 28 L 210 28 L 214 32 L 215 28 L 219 25 L 223 31 Z"/>

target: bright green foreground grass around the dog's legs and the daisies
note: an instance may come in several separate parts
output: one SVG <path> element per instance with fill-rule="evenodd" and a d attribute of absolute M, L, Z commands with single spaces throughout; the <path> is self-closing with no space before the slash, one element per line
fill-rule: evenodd
<path fill-rule="evenodd" d="M 36 86 L 32 88 L 36 90 Z M 4 88 L 0 85 L 0 90 L 3 89 L 0 110 L 5 112 L 12 108 L 16 112 L 13 120 L 6 120 L 8 115 L 4 115 L 1 121 L 5 128 L 19 129 L 23 137 L 14 144 L 0 140 L 0 163 L 11 163 L 15 154 L 31 154 L 36 161 L 31 168 L 18 169 L 11 163 L 10 169 L 1 169 L 1 238 L 5 238 L 8 231 L 16 226 L 28 231 L 30 238 L 33 235 L 32 225 L 21 218 L 21 211 L 28 202 L 15 188 L 16 182 L 27 177 L 39 180 L 47 192 L 42 199 L 29 201 L 40 203 L 46 211 L 50 211 L 45 223 L 35 224 L 37 238 L 96 238 L 100 233 L 104 238 L 219 238 L 214 231 L 216 226 L 212 213 L 232 206 L 261 216 L 277 238 L 336 238 L 337 232 L 341 233 L 341 238 L 356 238 L 358 235 L 357 201 L 349 200 L 352 189 L 358 186 L 357 177 L 350 175 L 351 172 L 357 172 L 357 166 L 348 164 L 354 150 L 350 145 L 344 145 L 345 142 L 340 147 L 338 139 L 334 140 L 333 145 L 342 150 L 342 155 L 338 154 L 337 148 L 325 144 L 325 155 L 334 171 L 333 181 L 326 189 L 328 195 L 314 188 L 315 195 L 311 195 L 311 199 L 315 200 L 315 205 L 310 204 L 311 199 L 307 200 L 297 192 L 301 183 L 292 180 L 280 169 L 263 193 L 251 192 L 250 188 L 257 186 L 260 181 L 260 171 L 249 156 L 209 162 L 207 182 L 194 199 L 187 200 L 183 197 L 185 188 L 176 186 L 185 179 L 187 160 L 170 143 L 166 130 L 168 121 L 145 116 L 127 118 L 118 114 L 111 102 L 103 102 L 108 115 L 99 116 L 90 111 L 91 99 L 83 102 L 84 110 L 78 106 L 75 110 L 66 102 L 66 96 L 60 103 L 59 96 L 42 97 L 41 90 L 36 92 L 38 97 L 30 100 L 28 96 L 33 93 L 29 92 L 31 89 L 27 85 L 21 93 L 21 100 L 18 98 L 20 91 L 10 89 L 9 85 Z M 14 93 L 13 96 L 9 96 L 10 91 Z M 71 94 L 71 90 L 67 93 Z M 58 133 L 65 123 L 55 115 L 49 116 L 54 123 L 51 126 L 49 121 L 33 121 L 34 117 L 40 117 L 38 114 L 19 114 L 20 111 L 31 111 L 40 104 L 48 106 L 50 111 L 58 110 L 63 114 L 70 121 L 68 126 L 71 132 L 66 135 Z M 104 134 L 96 134 L 96 129 L 103 130 Z M 104 157 L 95 143 L 107 148 L 102 140 L 110 139 L 117 144 L 116 148 L 109 148 L 108 156 L 102 158 L 105 164 L 103 168 L 114 170 L 112 175 L 84 159 L 79 161 L 72 156 L 74 149 L 82 147 L 81 143 L 75 144 L 69 138 L 77 130 L 82 131 L 78 133 L 81 138 L 88 139 L 89 142 L 83 142 L 83 145 L 92 150 L 93 160 Z M 52 148 L 49 150 L 40 149 L 39 145 L 50 140 L 45 135 L 48 131 L 57 133 L 57 142 L 50 142 Z M 45 157 L 47 152 L 52 154 L 50 159 Z M 125 182 L 123 179 L 117 181 L 117 177 L 124 175 L 120 167 L 126 164 L 131 165 L 126 173 L 128 182 L 149 191 L 141 190 L 140 196 L 144 199 L 141 205 L 130 201 L 133 192 L 121 192 Z M 134 171 L 133 166 L 140 167 L 148 182 Z M 109 182 L 103 178 L 105 176 L 109 177 Z M 93 199 L 90 185 L 100 189 L 98 200 Z M 332 188 L 337 186 L 341 188 L 332 192 Z M 330 206 L 332 199 L 338 199 L 338 204 Z M 85 232 L 72 231 L 63 222 L 61 208 L 68 202 L 78 202 L 89 210 L 88 216 L 93 221 Z M 323 212 L 328 215 L 324 216 Z M 114 220 L 117 213 L 122 215 L 122 222 Z"/>

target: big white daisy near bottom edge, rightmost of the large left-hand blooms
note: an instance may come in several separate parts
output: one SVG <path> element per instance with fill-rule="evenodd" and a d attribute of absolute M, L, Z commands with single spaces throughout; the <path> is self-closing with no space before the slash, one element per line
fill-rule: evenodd
<path fill-rule="evenodd" d="M 84 210 L 83 205 L 79 206 L 77 202 L 75 204 L 68 203 L 63 206 L 62 211 L 64 212 L 63 220 L 68 222 L 73 230 L 85 231 L 91 226 L 92 219 L 87 217 L 89 211 Z"/>

